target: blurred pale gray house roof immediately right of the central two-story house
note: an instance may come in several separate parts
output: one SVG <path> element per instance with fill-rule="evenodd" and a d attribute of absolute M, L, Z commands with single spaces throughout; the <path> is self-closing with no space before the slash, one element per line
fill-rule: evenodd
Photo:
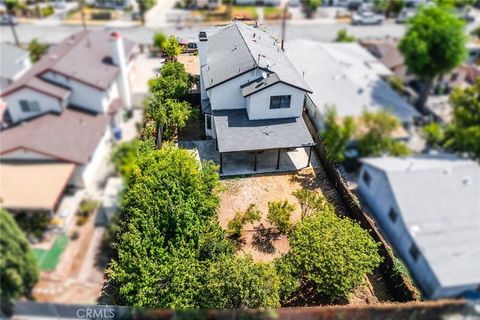
<path fill-rule="evenodd" d="M 327 108 L 340 118 L 359 117 L 364 110 L 386 110 L 409 130 L 418 112 L 382 78 L 391 72 L 356 43 L 322 43 L 298 39 L 287 43 L 287 55 L 313 88 L 307 108 L 319 129 Z"/>

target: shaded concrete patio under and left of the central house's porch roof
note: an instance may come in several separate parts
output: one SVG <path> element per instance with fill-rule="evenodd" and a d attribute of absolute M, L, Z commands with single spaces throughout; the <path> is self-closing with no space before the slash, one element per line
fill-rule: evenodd
<path fill-rule="evenodd" d="M 212 160 L 220 164 L 220 154 L 215 149 L 215 140 L 180 141 L 183 148 L 196 150 L 201 161 Z M 277 170 L 277 150 L 258 152 L 257 170 L 254 171 L 253 152 L 234 152 L 223 154 L 223 172 L 221 176 L 252 175 L 257 173 L 297 171 L 307 167 L 308 148 L 296 148 L 290 151 L 282 150 L 280 167 Z M 312 167 L 318 167 L 319 161 L 315 152 L 312 152 Z"/>

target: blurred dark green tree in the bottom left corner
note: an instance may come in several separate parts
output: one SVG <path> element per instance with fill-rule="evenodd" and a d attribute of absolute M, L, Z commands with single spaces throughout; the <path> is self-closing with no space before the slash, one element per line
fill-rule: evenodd
<path fill-rule="evenodd" d="M 30 297 L 39 278 L 35 256 L 13 217 L 0 210 L 0 297 L 11 303 Z"/>

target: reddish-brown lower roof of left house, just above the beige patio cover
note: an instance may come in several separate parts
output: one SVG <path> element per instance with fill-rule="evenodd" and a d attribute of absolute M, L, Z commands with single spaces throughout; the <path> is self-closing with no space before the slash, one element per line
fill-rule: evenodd
<path fill-rule="evenodd" d="M 65 109 L 48 113 L 0 132 L 0 155 L 27 149 L 58 160 L 86 164 L 105 134 L 107 115 Z"/>

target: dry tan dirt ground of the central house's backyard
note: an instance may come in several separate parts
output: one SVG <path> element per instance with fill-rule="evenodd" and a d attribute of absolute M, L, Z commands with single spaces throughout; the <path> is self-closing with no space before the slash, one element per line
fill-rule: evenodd
<path fill-rule="evenodd" d="M 300 219 L 301 210 L 297 199 L 292 195 L 297 189 L 309 189 L 324 194 L 334 205 L 337 213 L 345 214 L 345 207 L 338 198 L 335 189 L 329 184 L 323 169 L 304 169 L 296 173 L 258 175 L 246 178 L 222 180 L 220 193 L 220 209 L 218 213 L 220 225 L 226 229 L 228 222 L 236 211 L 245 211 L 253 203 L 262 213 L 260 222 L 249 224 L 244 228 L 244 236 L 238 253 L 250 254 L 255 261 L 268 262 L 288 252 L 286 236 L 278 236 L 275 229 L 267 221 L 268 202 L 288 200 L 295 204 L 292 222 Z M 370 305 L 393 301 L 385 288 L 379 272 L 365 277 L 365 284 L 350 296 L 349 305 Z M 311 304 L 312 301 L 306 304 Z M 317 302 L 318 303 L 318 302 Z M 300 305 L 302 302 L 300 302 Z M 313 302 L 315 304 L 315 302 Z"/>

